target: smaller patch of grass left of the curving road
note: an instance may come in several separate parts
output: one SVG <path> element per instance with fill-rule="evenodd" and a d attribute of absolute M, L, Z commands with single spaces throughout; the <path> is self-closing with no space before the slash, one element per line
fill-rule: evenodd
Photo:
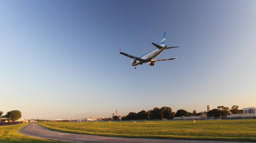
<path fill-rule="evenodd" d="M 46 140 L 39 137 L 32 137 L 18 133 L 18 130 L 28 123 L 21 125 L 0 126 L 0 142 L 1 143 L 64 143 L 60 141 Z M 66 143 L 66 142 L 65 142 Z"/>

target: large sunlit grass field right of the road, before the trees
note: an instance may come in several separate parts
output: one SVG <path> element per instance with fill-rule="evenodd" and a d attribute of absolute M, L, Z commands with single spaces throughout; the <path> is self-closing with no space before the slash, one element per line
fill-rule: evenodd
<path fill-rule="evenodd" d="M 134 122 L 38 122 L 54 131 L 115 136 L 185 140 L 256 142 L 256 119 Z"/>

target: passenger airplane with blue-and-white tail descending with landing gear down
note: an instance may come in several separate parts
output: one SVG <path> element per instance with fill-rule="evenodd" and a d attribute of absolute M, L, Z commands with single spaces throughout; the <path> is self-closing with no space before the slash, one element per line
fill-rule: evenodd
<path fill-rule="evenodd" d="M 174 60 L 174 59 L 177 59 L 178 58 L 178 54 L 176 56 L 176 58 L 169 58 L 169 59 L 153 59 L 155 57 L 157 57 L 159 54 L 161 54 L 165 49 L 171 49 L 171 48 L 177 48 L 177 47 L 167 47 L 167 45 L 165 45 L 165 34 L 166 32 L 164 32 L 164 35 L 162 37 L 162 40 L 161 40 L 161 43 L 160 45 L 157 45 L 155 43 L 152 43 L 157 49 L 155 50 L 152 50 L 146 54 L 143 54 L 142 56 L 140 57 L 135 57 L 135 56 L 132 56 L 130 54 L 127 54 L 127 53 L 124 53 L 124 52 L 121 52 L 121 48 L 119 50 L 119 53 L 124 55 L 124 56 L 127 56 L 129 58 L 132 58 L 133 60 L 131 61 L 132 63 L 132 66 L 134 66 L 134 69 L 136 69 L 136 66 L 137 65 L 142 65 L 142 63 L 147 63 L 148 62 L 148 65 L 149 66 L 154 66 L 154 63 L 156 61 L 164 61 L 164 60 Z M 179 46 L 178 46 L 179 47 Z"/>

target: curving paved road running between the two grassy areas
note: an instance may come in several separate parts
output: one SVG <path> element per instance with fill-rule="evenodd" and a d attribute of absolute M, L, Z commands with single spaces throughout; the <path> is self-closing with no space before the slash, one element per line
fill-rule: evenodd
<path fill-rule="evenodd" d="M 36 123 L 30 123 L 18 131 L 19 133 L 46 138 L 50 140 L 77 142 L 77 143 L 232 143 L 218 141 L 195 141 L 195 140 L 165 140 L 149 138 L 124 138 L 124 137 L 106 137 L 94 135 L 71 134 L 51 131 Z M 239 142 L 234 142 L 239 143 Z M 241 142 L 240 142 L 241 143 Z"/>

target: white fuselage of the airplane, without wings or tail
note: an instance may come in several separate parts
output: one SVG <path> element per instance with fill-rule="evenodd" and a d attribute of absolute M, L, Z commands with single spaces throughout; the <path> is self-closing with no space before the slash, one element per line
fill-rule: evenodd
<path fill-rule="evenodd" d="M 143 54 L 142 56 L 140 56 L 139 58 L 141 59 L 145 59 L 145 61 L 138 61 L 136 60 L 136 62 L 134 63 L 133 60 L 131 61 L 132 66 L 136 66 L 139 65 L 140 63 L 147 63 L 149 61 L 151 61 L 153 58 L 157 57 L 159 54 L 161 54 L 164 51 L 165 48 L 162 49 L 155 49 L 153 51 L 150 51 L 146 54 Z"/>

